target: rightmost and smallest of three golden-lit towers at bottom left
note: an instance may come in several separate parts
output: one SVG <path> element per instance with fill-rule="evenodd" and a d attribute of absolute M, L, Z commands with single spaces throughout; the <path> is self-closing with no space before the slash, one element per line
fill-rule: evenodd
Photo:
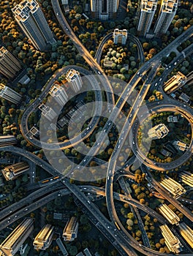
<path fill-rule="evenodd" d="M 64 227 L 63 235 L 64 241 L 74 241 L 77 238 L 78 222 L 77 218 L 71 217 Z"/>

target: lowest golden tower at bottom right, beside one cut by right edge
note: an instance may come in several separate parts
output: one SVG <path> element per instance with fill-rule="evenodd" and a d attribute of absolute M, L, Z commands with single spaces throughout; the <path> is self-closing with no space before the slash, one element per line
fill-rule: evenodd
<path fill-rule="evenodd" d="M 179 239 L 173 235 L 172 231 L 170 230 L 167 225 L 160 226 L 162 236 L 165 239 L 165 244 L 170 252 L 179 253 L 182 251 L 181 242 Z"/>

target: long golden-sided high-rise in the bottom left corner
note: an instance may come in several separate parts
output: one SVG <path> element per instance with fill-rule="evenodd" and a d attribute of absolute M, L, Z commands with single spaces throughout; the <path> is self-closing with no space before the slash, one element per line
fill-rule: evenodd
<path fill-rule="evenodd" d="M 26 218 L 10 233 L 0 245 L 1 252 L 6 256 L 15 255 L 20 246 L 34 230 L 34 219 Z"/>

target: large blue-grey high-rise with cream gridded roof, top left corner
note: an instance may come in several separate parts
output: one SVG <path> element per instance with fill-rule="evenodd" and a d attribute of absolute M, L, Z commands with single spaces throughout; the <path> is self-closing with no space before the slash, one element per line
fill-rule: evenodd
<path fill-rule="evenodd" d="M 45 16 L 35 0 L 24 0 L 12 9 L 21 29 L 26 34 L 34 48 L 45 50 L 48 43 L 53 43 L 52 31 L 50 30 Z"/>

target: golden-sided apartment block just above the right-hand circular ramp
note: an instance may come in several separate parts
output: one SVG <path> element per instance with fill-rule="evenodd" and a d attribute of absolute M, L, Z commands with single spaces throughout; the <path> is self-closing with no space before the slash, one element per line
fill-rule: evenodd
<path fill-rule="evenodd" d="M 178 71 L 176 75 L 173 75 L 172 78 L 170 78 L 169 80 L 167 80 L 166 83 L 164 83 L 164 91 L 167 94 L 171 94 L 174 91 L 178 90 L 181 86 L 183 86 L 186 83 L 186 81 L 186 76 Z"/>

